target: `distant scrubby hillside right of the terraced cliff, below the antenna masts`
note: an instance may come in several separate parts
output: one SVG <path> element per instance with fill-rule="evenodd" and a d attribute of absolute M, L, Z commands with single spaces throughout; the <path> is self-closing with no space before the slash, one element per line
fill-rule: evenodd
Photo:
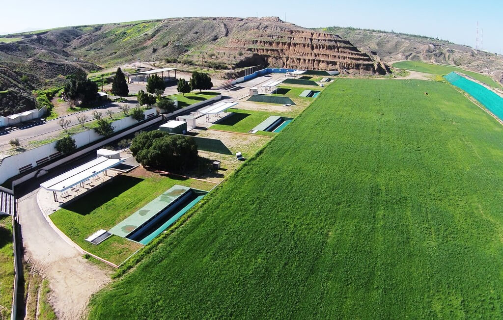
<path fill-rule="evenodd" d="M 377 54 L 387 63 L 399 60 L 451 64 L 489 74 L 503 83 L 503 56 L 428 37 L 354 28 L 316 29 L 348 39 L 363 51 Z"/>

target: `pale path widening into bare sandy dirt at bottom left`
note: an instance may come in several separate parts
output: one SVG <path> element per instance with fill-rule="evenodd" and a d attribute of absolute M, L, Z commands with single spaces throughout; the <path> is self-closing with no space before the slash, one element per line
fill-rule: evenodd
<path fill-rule="evenodd" d="M 111 281 L 110 271 L 83 259 L 51 228 L 37 204 L 37 192 L 18 202 L 25 259 L 49 280 L 49 302 L 58 318 L 81 318 L 91 295 Z"/>

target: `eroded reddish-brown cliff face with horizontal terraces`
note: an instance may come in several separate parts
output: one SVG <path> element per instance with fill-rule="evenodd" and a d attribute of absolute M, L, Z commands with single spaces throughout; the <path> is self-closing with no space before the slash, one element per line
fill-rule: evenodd
<path fill-rule="evenodd" d="M 266 64 L 274 67 L 339 70 L 350 74 L 388 72 L 380 59 L 361 52 L 348 40 L 272 19 L 248 22 L 248 31 L 232 32 L 222 49 L 244 52 L 243 60 L 259 55 Z M 263 28 L 266 24 L 267 28 Z"/>

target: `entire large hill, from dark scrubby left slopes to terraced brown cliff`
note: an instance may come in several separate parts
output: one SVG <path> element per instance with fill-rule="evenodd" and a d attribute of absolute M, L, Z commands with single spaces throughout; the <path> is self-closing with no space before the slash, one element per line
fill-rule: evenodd
<path fill-rule="evenodd" d="M 385 74 L 388 67 L 350 41 L 277 17 L 175 18 L 59 28 L 0 42 L 0 114 L 33 109 L 33 89 L 60 83 L 97 64 L 164 61 L 219 69 L 246 66 Z M 95 64 L 96 63 L 96 64 Z M 234 75 L 238 72 L 234 72 Z"/>

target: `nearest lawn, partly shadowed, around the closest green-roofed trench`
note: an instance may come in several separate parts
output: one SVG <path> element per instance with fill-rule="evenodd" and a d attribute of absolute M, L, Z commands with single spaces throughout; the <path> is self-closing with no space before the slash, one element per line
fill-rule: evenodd
<path fill-rule="evenodd" d="M 85 239 L 100 229 L 109 230 L 175 184 L 209 190 L 213 184 L 167 177 L 139 178 L 119 175 L 108 185 L 82 197 L 49 217 L 82 249 L 115 264 L 120 264 L 141 245 L 112 236 L 99 245 Z"/>

